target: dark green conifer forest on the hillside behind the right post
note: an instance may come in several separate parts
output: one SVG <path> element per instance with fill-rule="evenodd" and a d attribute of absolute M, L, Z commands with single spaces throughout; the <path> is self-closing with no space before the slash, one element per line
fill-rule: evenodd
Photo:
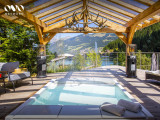
<path fill-rule="evenodd" d="M 136 31 L 132 43 L 136 44 L 137 50 L 142 52 L 160 52 L 160 23 Z M 107 44 L 103 51 L 111 49 L 114 52 L 125 52 L 125 48 L 125 44 L 120 39 L 116 39 Z"/>

